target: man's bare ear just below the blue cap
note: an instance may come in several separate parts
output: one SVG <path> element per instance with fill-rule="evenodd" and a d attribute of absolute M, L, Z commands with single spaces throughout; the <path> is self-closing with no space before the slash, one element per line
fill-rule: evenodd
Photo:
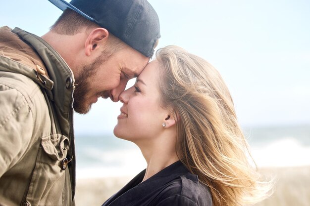
<path fill-rule="evenodd" d="M 109 32 L 104 28 L 92 30 L 85 41 L 85 55 L 90 56 L 94 51 L 99 50 L 108 39 Z"/>

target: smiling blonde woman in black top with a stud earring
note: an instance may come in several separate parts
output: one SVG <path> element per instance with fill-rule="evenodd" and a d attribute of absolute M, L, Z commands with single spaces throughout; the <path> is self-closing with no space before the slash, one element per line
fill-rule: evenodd
<path fill-rule="evenodd" d="M 137 144 L 148 165 L 103 206 L 236 206 L 266 197 L 230 93 L 202 58 L 159 49 L 120 101 L 114 134 Z"/>

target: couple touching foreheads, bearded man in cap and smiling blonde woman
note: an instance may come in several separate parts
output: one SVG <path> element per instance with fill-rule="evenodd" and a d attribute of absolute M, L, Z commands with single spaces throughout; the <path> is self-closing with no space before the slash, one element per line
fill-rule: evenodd
<path fill-rule="evenodd" d="M 230 206 L 265 196 L 217 71 L 176 46 L 148 64 L 160 32 L 146 0 L 50 1 L 64 12 L 42 38 L 0 28 L 1 206 L 75 205 L 73 108 L 85 114 L 99 97 L 123 103 L 114 134 L 148 163 L 104 206 Z"/>

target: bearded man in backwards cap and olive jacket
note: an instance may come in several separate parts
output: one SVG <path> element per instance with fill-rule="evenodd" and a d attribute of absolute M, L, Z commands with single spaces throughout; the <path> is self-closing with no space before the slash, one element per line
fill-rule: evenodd
<path fill-rule="evenodd" d="M 146 0 L 50 0 L 63 14 L 42 38 L 0 28 L 0 205 L 72 206 L 73 108 L 118 101 L 160 37 Z"/>

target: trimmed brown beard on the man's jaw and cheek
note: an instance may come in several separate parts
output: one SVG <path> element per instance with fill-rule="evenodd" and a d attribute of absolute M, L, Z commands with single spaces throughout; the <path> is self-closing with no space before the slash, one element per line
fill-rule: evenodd
<path fill-rule="evenodd" d="M 93 77 L 96 75 L 99 67 L 108 59 L 110 55 L 102 54 L 96 61 L 90 65 L 83 65 L 80 70 L 81 74 L 76 77 L 75 80 L 75 90 L 73 93 L 73 109 L 79 114 L 86 114 L 91 110 L 92 104 L 87 103 L 87 94 L 91 90 L 91 82 Z M 109 97 L 108 91 L 103 91 L 98 93 L 103 96 L 103 98 Z"/>

